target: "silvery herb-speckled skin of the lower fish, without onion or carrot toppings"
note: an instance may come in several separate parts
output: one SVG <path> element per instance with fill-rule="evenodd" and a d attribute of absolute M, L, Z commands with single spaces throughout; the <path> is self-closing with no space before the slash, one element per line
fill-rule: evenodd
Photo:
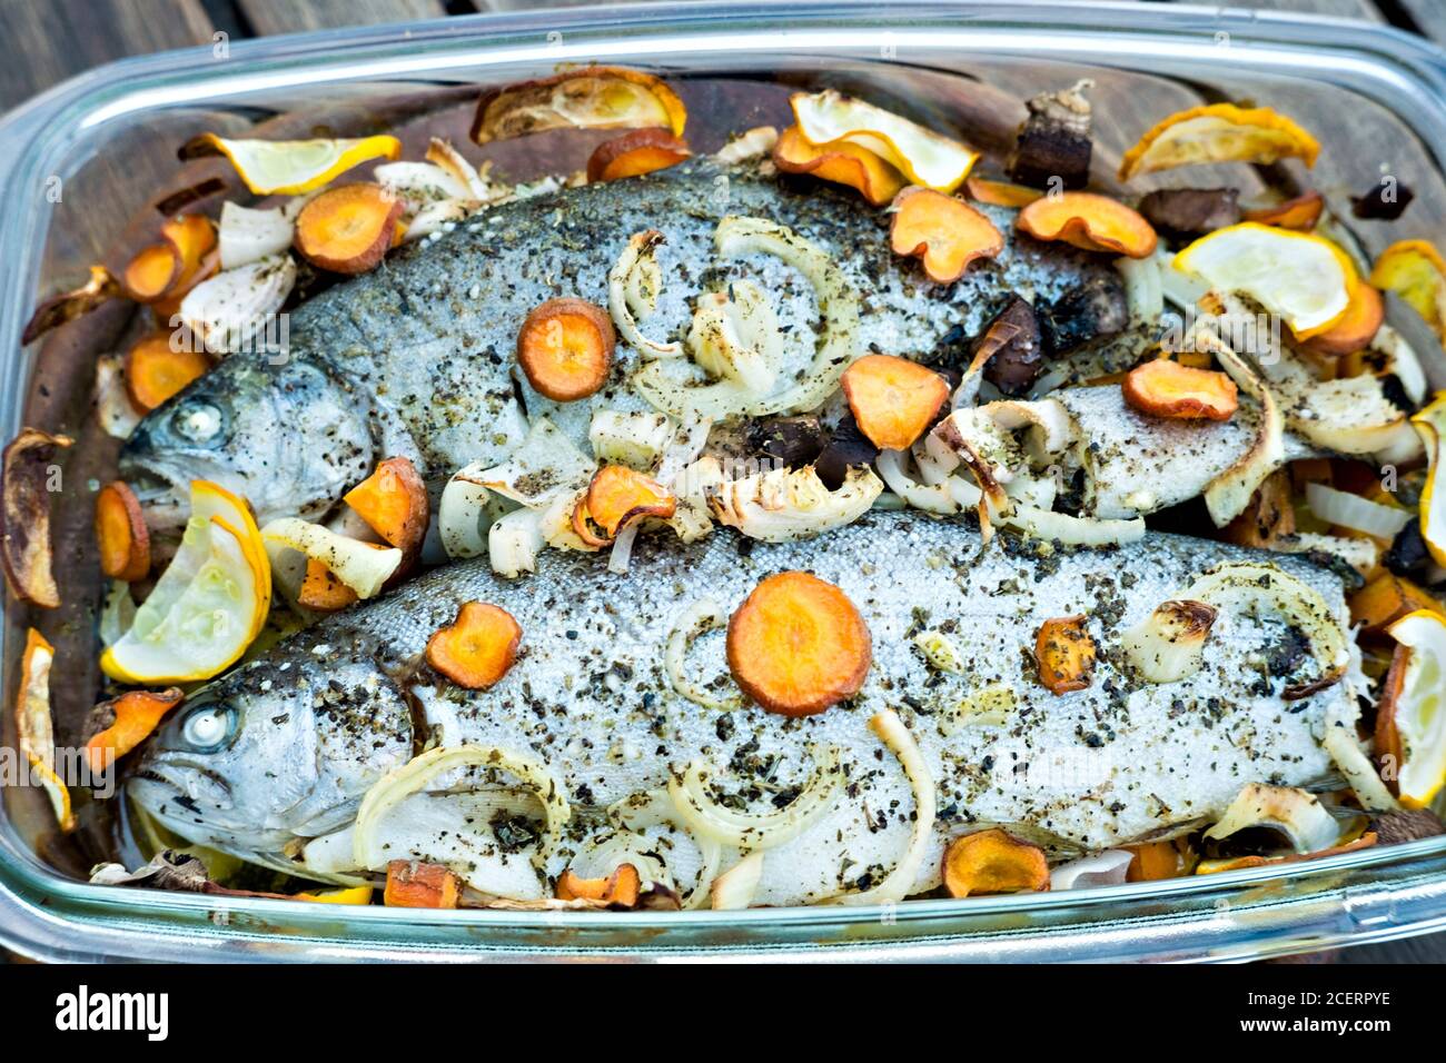
<path fill-rule="evenodd" d="M 904 719 L 938 784 L 940 819 L 915 891 L 938 882 L 946 842 L 980 824 L 1005 824 L 1070 855 L 1219 816 L 1251 781 L 1313 785 L 1333 775 L 1319 739 L 1330 709 L 1353 706 L 1353 668 L 1342 683 L 1283 701 L 1284 678 L 1267 683 L 1249 659 L 1270 632 L 1226 615 L 1206 665 L 1180 683 L 1139 683 L 1116 664 L 1124 631 L 1222 561 L 1278 565 L 1345 622 L 1339 579 L 1304 561 L 1155 532 L 1106 551 L 1043 555 L 1006 535 L 982 548 L 963 522 L 911 512 L 870 513 L 826 542 L 739 545 L 730 532 L 691 548 L 643 539 L 628 576 L 564 551 L 548 551 L 538 574 L 516 584 L 484 563 L 437 570 L 213 683 L 165 725 L 127 785 L 176 833 L 247 859 L 275 859 L 266 855 L 337 832 L 305 850 L 317 874 L 331 874 L 346 869 L 346 824 L 367 785 L 424 739 L 505 746 L 547 759 L 573 804 L 574 832 L 548 863 L 557 875 L 609 804 L 664 787 L 696 756 L 729 788 L 756 782 L 748 774 L 769 762 L 772 784 L 795 785 L 811 769 L 810 745 L 833 742 L 853 788 L 820 823 L 769 850 L 755 897 L 800 904 L 876 884 L 905 850 L 914 798 L 868 727 L 884 709 Z M 785 719 L 674 694 L 662 654 L 675 618 L 703 597 L 732 613 L 759 579 L 787 568 L 839 584 L 863 615 L 873 662 L 859 696 Z M 409 709 L 408 680 L 398 677 L 470 599 L 518 619 L 516 664 L 486 691 L 463 691 L 424 667 L 411 680 Z M 1031 649 L 1043 620 L 1071 613 L 1089 618 L 1099 664 L 1089 688 L 1054 696 L 1034 678 Z M 921 628 L 953 628 L 967 675 L 930 670 L 911 642 Z M 716 633 L 694 644 L 687 674 L 696 683 L 722 677 L 716 690 L 727 694 L 735 687 L 722 642 Z M 1005 726 L 951 726 L 957 700 L 995 681 L 1018 699 Z M 187 713 L 207 704 L 237 713 L 234 743 L 211 754 L 184 739 Z M 414 719 L 425 720 L 425 735 L 414 733 Z M 765 794 L 752 807 L 772 804 Z M 526 855 L 496 852 L 490 827 L 428 808 L 437 836 L 414 839 L 406 852 L 398 845 L 392 856 L 453 861 L 484 892 L 551 895 Z"/>

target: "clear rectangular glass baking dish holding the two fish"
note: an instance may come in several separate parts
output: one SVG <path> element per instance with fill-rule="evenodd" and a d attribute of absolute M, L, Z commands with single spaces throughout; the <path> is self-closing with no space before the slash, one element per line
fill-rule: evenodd
<path fill-rule="evenodd" d="M 61 330 L 30 349 L 20 347 L 22 327 L 39 296 L 72 283 L 97 256 L 113 260 L 134 246 L 127 230 L 140 224 L 136 211 L 176 182 L 174 150 L 189 136 L 262 120 L 376 132 L 441 108 L 466 113 L 479 84 L 539 77 L 565 62 L 655 71 L 681 87 L 691 108 L 726 111 L 735 129 L 778 120 L 781 84 L 831 84 L 892 101 L 983 148 L 1006 142 L 1025 95 L 1089 75 L 1105 156 L 1192 101 L 1257 98 L 1300 119 L 1327 146 L 1313 187 L 1339 195 L 1394 172 L 1416 191 L 1416 207 L 1395 229 L 1366 223 L 1358 233 L 1366 250 L 1432 236 L 1446 210 L 1446 55 L 1391 29 L 1319 16 L 1099 3 L 703 3 L 220 42 L 93 71 L 0 124 L 0 191 L 10 204 L 0 214 L 0 350 L 13 351 L 0 366 L 6 435 L 22 424 L 78 431 L 87 419 L 90 369 L 75 369 L 75 359 L 114 344 L 127 311 L 111 304 L 82 337 Z M 739 123 L 739 113 L 756 120 Z M 1275 168 L 1272 179 L 1288 185 L 1301 175 Z M 1446 364 L 1432 372 L 1443 386 Z M 85 484 L 113 458 L 113 445 L 78 445 L 67 477 Z M 80 487 L 74 495 L 87 498 Z M 75 547 L 88 505 L 68 506 L 62 492 L 61 565 L 74 557 L 75 568 L 93 567 Z M 10 662 L 30 619 L 7 602 L 6 704 L 14 697 Z M 68 603 L 46 623 L 93 645 L 94 602 Z M 97 688 L 91 668 L 67 668 L 61 680 L 62 743 Z M 4 722 L 13 727 L 9 713 Z M 0 739 L 12 746 L 13 732 Z M 1218 960 L 1446 928 L 1440 837 L 1287 869 L 967 904 L 432 913 L 93 887 L 84 878 L 94 848 L 56 840 L 38 790 L 0 795 L 0 944 L 46 959 Z"/>

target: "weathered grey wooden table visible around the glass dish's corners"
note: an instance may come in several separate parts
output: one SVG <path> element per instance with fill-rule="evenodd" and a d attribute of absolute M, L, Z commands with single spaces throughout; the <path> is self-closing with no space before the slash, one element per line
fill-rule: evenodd
<path fill-rule="evenodd" d="M 127 55 L 213 43 L 215 33 L 239 40 L 477 12 L 565 7 L 587 1 L 0 0 L 0 111 L 93 67 Z M 1232 6 L 1316 12 L 1388 23 L 1446 46 L 1446 0 L 1233 0 Z M 1349 949 L 1322 959 L 1345 963 L 1440 963 L 1446 962 L 1446 933 Z"/>

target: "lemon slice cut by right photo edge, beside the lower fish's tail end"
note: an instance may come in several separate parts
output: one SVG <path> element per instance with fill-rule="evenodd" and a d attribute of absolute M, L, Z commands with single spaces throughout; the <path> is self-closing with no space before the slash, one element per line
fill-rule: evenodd
<path fill-rule="evenodd" d="M 1446 618 L 1420 609 L 1387 631 L 1410 651 L 1395 694 L 1401 804 L 1424 808 L 1446 785 Z"/>

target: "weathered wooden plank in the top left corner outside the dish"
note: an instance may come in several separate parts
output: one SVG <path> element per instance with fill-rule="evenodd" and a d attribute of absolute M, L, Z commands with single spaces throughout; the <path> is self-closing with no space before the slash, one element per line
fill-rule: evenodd
<path fill-rule="evenodd" d="M 0 3 L 0 110 L 127 55 L 210 43 L 201 0 Z"/>

